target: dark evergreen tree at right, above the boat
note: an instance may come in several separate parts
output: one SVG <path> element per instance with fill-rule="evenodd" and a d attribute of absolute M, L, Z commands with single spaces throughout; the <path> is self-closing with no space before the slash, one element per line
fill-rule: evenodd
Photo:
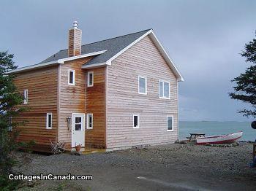
<path fill-rule="evenodd" d="M 252 109 L 243 109 L 239 113 L 256 118 L 256 39 L 245 44 L 241 56 L 246 58 L 247 63 L 252 63 L 252 66 L 249 66 L 244 74 L 232 80 L 236 82 L 236 86 L 233 87 L 234 92 L 229 95 L 232 99 L 251 104 Z"/>

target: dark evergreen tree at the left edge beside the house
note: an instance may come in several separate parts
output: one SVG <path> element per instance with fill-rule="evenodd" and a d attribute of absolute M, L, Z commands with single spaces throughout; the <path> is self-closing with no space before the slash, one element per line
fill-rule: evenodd
<path fill-rule="evenodd" d="M 23 102 L 23 96 L 17 92 L 13 84 L 15 76 L 7 73 L 18 67 L 12 58 L 13 55 L 8 52 L 0 52 L 0 187 L 5 190 L 11 190 L 14 186 L 8 179 L 14 164 L 10 153 L 18 147 L 15 141 L 17 134 L 10 133 L 10 128 L 24 124 L 12 122 L 12 117 L 26 110 L 24 107 L 18 107 Z"/>

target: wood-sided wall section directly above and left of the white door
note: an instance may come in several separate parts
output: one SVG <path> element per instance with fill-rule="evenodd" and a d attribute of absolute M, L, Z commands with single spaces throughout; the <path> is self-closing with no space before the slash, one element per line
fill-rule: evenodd
<path fill-rule="evenodd" d="M 67 117 L 72 113 L 86 113 L 86 72 L 81 66 L 91 58 L 80 58 L 61 64 L 59 79 L 59 141 L 71 149 L 72 122 L 68 125 Z M 75 70 L 75 85 L 68 85 L 69 69 Z"/>

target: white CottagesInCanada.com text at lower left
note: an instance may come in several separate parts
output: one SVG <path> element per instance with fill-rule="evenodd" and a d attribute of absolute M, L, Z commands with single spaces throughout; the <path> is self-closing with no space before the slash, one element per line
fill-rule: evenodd
<path fill-rule="evenodd" d="M 92 175 L 60 175 L 60 174 L 36 174 L 36 175 L 26 175 L 26 174 L 10 174 L 10 180 L 91 180 Z"/>

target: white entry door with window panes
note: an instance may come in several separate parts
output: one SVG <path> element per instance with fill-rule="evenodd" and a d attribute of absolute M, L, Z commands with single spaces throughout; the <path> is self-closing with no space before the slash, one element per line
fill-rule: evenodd
<path fill-rule="evenodd" d="M 72 147 L 85 143 L 85 120 L 84 114 L 72 114 Z"/>

